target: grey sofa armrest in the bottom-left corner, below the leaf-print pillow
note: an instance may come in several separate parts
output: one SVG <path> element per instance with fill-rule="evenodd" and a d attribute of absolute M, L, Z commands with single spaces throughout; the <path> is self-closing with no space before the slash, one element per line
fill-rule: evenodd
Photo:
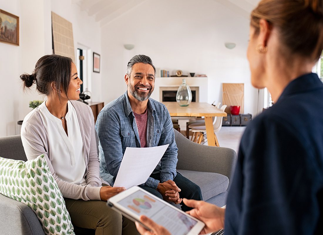
<path fill-rule="evenodd" d="M 24 203 L 0 194 L 0 234 L 44 234 L 35 213 Z"/>

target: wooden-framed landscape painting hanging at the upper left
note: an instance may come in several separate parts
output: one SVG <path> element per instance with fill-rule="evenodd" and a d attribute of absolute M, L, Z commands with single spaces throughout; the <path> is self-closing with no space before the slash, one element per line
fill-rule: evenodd
<path fill-rule="evenodd" d="M 19 17 L 1 9 L 0 42 L 19 46 Z"/>

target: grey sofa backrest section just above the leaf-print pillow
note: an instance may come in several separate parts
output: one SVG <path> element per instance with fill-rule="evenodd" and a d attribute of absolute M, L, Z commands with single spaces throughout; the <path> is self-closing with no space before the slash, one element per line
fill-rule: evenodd
<path fill-rule="evenodd" d="M 0 157 L 27 161 L 20 135 L 0 137 Z"/>

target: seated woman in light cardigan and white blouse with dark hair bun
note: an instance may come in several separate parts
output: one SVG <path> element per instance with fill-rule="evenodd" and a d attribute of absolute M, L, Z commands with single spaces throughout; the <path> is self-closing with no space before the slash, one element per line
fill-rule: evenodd
<path fill-rule="evenodd" d="M 43 56 L 34 72 L 20 79 L 24 89 L 35 83 L 47 97 L 27 114 L 21 127 L 27 159 L 45 154 L 72 224 L 94 229 L 95 234 L 137 234 L 132 221 L 106 206 L 107 199 L 125 189 L 111 187 L 99 176 L 93 113 L 77 101 L 82 81 L 72 59 Z"/>

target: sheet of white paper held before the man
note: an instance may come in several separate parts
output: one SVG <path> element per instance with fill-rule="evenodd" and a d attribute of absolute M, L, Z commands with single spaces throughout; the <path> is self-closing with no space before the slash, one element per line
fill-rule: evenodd
<path fill-rule="evenodd" d="M 130 188 L 146 182 L 169 144 L 150 148 L 130 148 L 124 152 L 113 187 Z"/>

